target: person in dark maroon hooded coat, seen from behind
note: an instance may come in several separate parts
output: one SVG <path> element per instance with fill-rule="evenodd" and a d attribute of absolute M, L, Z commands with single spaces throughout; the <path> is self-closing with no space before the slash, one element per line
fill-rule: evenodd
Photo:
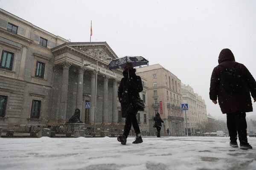
<path fill-rule="evenodd" d="M 239 92 L 227 93 L 220 83 L 221 71 L 225 68 L 218 65 L 212 71 L 209 97 L 214 104 L 217 104 L 218 99 L 221 112 L 227 114 L 230 146 L 238 147 L 236 142 L 238 133 L 240 149 L 252 149 L 252 146 L 247 141 L 245 116 L 246 112 L 253 111 L 250 94 L 254 102 L 256 102 L 256 81 L 243 64 L 235 61 L 235 57 L 230 49 L 225 48 L 220 52 L 218 63 L 225 68 L 232 68 L 234 66 L 235 68 L 240 68 L 244 87 Z"/>

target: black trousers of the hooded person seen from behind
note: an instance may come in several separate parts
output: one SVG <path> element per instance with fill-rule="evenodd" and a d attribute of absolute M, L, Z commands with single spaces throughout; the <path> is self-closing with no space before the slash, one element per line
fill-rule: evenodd
<path fill-rule="evenodd" d="M 230 140 L 236 141 L 237 133 L 239 141 L 247 142 L 247 123 L 245 112 L 227 113 L 227 129 L 230 134 Z"/>

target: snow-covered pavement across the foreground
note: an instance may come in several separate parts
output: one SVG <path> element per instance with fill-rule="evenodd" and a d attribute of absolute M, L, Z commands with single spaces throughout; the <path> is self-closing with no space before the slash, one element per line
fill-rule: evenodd
<path fill-rule="evenodd" d="M 1 170 L 256 170 L 253 150 L 228 137 L 0 138 Z"/>

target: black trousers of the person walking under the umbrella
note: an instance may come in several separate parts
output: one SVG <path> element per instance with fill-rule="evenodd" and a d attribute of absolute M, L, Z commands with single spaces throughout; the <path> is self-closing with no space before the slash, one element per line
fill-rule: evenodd
<path fill-rule="evenodd" d="M 127 116 L 125 118 L 125 128 L 124 128 L 123 135 L 125 135 L 126 138 L 128 137 L 131 130 L 131 125 L 132 125 L 136 133 L 136 136 L 140 136 L 140 127 L 138 125 L 137 118 L 136 118 L 138 111 L 132 108 L 128 108 L 126 112 L 127 112 Z"/>

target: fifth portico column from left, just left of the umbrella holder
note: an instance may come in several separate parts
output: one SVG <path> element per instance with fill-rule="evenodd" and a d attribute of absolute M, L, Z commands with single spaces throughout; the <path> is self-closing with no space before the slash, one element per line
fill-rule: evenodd
<path fill-rule="evenodd" d="M 113 102 L 112 102 L 112 124 L 117 125 L 118 112 L 117 112 L 117 80 L 113 79 Z"/>

